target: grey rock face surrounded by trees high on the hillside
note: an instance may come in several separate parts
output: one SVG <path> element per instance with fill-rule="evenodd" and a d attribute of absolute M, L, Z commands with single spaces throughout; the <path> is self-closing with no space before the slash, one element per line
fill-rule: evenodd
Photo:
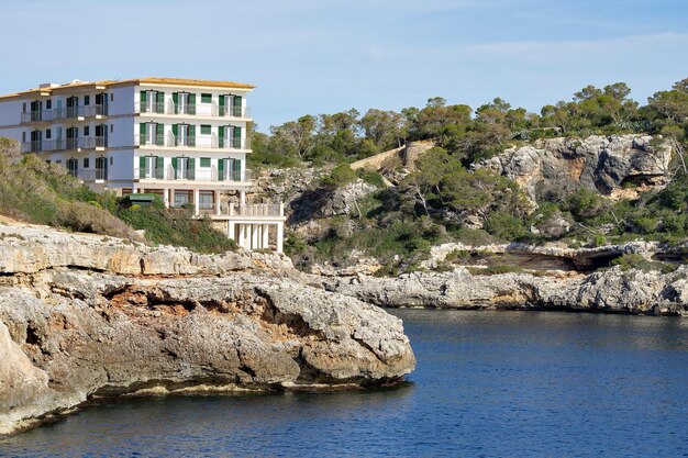
<path fill-rule="evenodd" d="M 512 147 L 482 161 L 517 181 L 533 202 L 557 201 L 580 188 L 615 197 L 666 182 L 672 149 L 652 145 L 650 135 L 592 135 L 585 139 L 547 138 Z M 637 188 L 629 191 L 625 188 Z"/>

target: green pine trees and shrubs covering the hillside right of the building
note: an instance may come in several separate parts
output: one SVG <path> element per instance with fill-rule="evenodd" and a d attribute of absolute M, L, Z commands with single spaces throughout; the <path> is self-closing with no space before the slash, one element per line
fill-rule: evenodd
<path fill-rule="evenodd" d="M 357 202 L 351 215 L 321 221 L 317 236 L 291 234 L 288 253 L 298 264 L 346 264 L 375 256 L 387 271 L 407 270 L 437 243 L 466 244 L 563 239 L 569 245 L 600 245 L 635 238 L 667 243 L 688 236 L 688 79 L 656 92 L 640 105 L 623 83 L 588 86 L 570 101 L 545 105 L 540 113 L 512 108 L 502 99 L 473 110 L 433 98 L 424 108 L 400 113 L 371 109 L 306 115 L 253 133 L 255 167 L 336 164 L 321 188 L 342 187 L 357 178 L 346 166 L 408 141 L 432 139 L 436 147 L 417 170 L 397 174 L 397 185 Z M 509 146 L 545 137 L 647 133 L 662 135 L 676 153 L 670 185 L 634 200 L 612 201 L 582 189 L 544 199 L 535 206 L 504 177 L 473 167 Z M 656 146 L 656 145 L 655 145 Z M 391 170 L 393 175 L 393 170 Z M 397 170 L 398 171 L 398 170 Z M 367 174 L 366 181 L 381 182 Z M 564 225 L 566 228 L 562 230 Z M 471 227 L 481 228 L 471 228 Z"/>

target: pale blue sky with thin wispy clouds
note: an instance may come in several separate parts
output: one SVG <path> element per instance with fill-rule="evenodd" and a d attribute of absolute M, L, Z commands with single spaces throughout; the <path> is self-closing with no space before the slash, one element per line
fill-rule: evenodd
<path fill-rule="evenodd" d="M 262 131 L 302 114 L 539 111 L 588 83 L 641 102 L 688 77 L 686 0 L 0 0 L 0 93 L 143 76 L 252 82 Z"/>

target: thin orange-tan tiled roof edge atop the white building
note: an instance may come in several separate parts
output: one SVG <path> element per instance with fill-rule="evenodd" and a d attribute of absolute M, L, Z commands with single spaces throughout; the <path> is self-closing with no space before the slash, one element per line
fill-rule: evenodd
<path fill-rule="evenodd" d="M 244 89 L 252 90 L 255 88 L 254 85 L 247 85 L 244 82 L 236 81 L 214 81 L 208 79 L 185 79 L 185 78 L 160 78 L 160 77 L 145 77 L 145 78 L 136 78 L 136 79 L 124 79 L 124 80 L 114 80 L 108 79 L 102 81 L 75 81 L 67 82 L 66 85 L 59 86 L 48 86 L 45 88 L 34 88 L 29 89 L 21 92 L 9 93 L 5 96 L 0 96 L 0 100 L 2 99 L 14 99 L 26 96 L 52 96 L 57 92 L 65 92 L 71 89 L 93 89 L 93 90 L 106 90 L 108 87 L 119 87 L 119 86 L 142 86 L 142 85 L 159 85 L 159 86 L 193 86 L 193 87 L 202 87 L 202 88 L 219 88 L 219 89 Z"/>

